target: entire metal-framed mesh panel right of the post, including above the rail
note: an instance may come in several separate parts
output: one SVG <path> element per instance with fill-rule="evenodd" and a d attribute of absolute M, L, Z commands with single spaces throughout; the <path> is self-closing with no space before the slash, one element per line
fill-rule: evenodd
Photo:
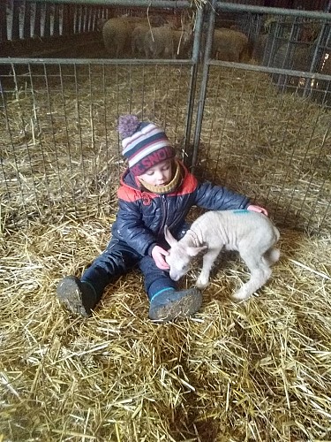
<path fill-rule="evenodd" d="M 245 13 L 247 22 L 257 23 L 259 14 L 260 23 L 271 24 L 272 32 L 246 38 L 253 49 L 267 35 L 264 51 L 253 51 L 249 64 L 240 63 L 243 32 L 214 29 L 217 6 L 240 11 L 241 20 Z M 328 232 L 329 14 L 246 9 L 216 2 L 211 8 L 193 141 L 195 170 L 265 205 L 279 225 Z M 223 41 L 228 38 L 226 47 L 217 41 L 220 33 Z"/>

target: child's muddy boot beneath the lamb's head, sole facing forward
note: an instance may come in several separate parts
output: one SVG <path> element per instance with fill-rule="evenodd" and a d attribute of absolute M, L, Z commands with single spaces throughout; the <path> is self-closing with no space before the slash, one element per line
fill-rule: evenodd
<path fill-rule="evenodd" d="M 149 318 L 172 321 L 177 316 L 191 316 L 202 304 L 202 295 L 197 288 L 167 290 L 152 299 Z"/>

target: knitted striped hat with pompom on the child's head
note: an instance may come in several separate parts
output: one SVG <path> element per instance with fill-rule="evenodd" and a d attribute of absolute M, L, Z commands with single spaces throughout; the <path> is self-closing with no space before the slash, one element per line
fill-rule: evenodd
<path fill-rule="evenodd" d="M 142 123 L 135 115 L 123 115 L 118 118 L 117 130 L 122 137 L 123 155 L 135 176 L 175 156 L 167 135 L 153 123 Z"/>

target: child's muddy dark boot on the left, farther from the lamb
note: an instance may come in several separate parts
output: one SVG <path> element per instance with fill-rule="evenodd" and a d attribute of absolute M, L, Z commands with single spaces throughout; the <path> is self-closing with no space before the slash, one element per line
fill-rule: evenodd
<path fill-rule="evenodd" d="M 96 294 L 92 286 L 81 282 L 79 278 L 68 276 L 58 283 L 57 298 L 72 313 L 90 316 L 96 304 Z"/>

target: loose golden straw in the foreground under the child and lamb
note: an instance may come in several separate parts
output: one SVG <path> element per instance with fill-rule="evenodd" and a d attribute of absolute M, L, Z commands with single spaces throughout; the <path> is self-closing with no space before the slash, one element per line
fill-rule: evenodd
<path fill-rule="evenodd" d="M 329 440 L 330 239 L 282 230 L 273 277 L 242 304 L 229 300 L 248 278 L 232 254 L 191 319 L 149 321 L 138 271 L 93 317 L 71 316 L 57 281 L 100 253 L 112 221 L 2 238 L 3 440 Z"/>

